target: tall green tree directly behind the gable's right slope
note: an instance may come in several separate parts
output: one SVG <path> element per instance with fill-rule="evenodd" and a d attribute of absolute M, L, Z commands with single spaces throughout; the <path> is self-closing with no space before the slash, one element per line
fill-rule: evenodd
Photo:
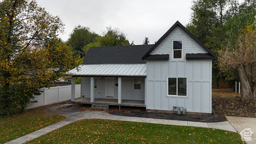
<path fill-rule="evenodd" d="M 231 0 L 232 1 L 232 0 Z M 226 38 L 224 23 L 228 0 L 193 0 L 190 22 L 186 28 L 212 52 L 218 55 Z M 212 85 L 218 86 L 220 70 L 218 61 L 213 62 Z"/>

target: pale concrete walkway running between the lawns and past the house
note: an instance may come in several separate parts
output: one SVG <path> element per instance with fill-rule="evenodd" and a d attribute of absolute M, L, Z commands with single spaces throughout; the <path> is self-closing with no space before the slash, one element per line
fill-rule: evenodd
<path fill-rule="evenodd" d="M 61 106 L 55 106 L 55 107 L 48 108 L 45 110 L 46 112 L 51 113 L 51 114 L 60 114 L 60 115 L 66 116 L 67 117 L 66 120 L 62 120 L 61 122 L 52 124 L 51 126 L 47 126 L 45 128 L 42 128 L 40 130 L 37 130 L 35 132 L 32 132 L 30 134 L 27 134 L 25 136 L 22 136 L 20 138 L 17 138 L 15 140 L 7 142 L 5 144 L 23 144 L 25 142 L 33 140 L 34 138 L 37 138 L 44 134 L 47 134 L 48 132 L 56 130 L 62 126 L 65 126 L 65 125 L 75 122 L 77 120 L 91 119 L 91 118 L 108 119 L 108 120 L 123 120 L 123 121 L 132 121 L 132 122 L 147 122 L 147 123 L 154 123 L 154 124 L 170 124 L 170 125 L 177 125 L 177 126 L 196 126 L 196 127 L 203 127 L 203 128 L 216 128 L 216 129 L 221 129 L 221 130 L 228 130 L 231 132 L 237 132 L 236 130 L 240 130 L 240 129 L 242 130 L 244 128 L 244 127 L 242 127 L 242 128 L 238 127 L 238 129 L 235 129 L 236 126 L 239 125 L 239 123 L 237 125 L 233 124 L 236 122 L 236 119 L 233 119 L 233 118 L 237 118 L 237 117 L 227 117 L 228 120 L 229 119 L 231 120 L 231 122 L 226 121 L 226 122 L 205 123 L 205 122 L 189 122 L 189 121 L 178 121 L 178 120 L 162 120 L 162 119 L 154 119 L 154 118 L 115 116 L 115 115 L 107 114 L 104 111 L 88 110 L 88 111 L 84 111 L 84 112 L 61 112 L 61 111 L 56 110 L 58 108 L 62 108 L 65 106 L 70 106 L 70 105 L 72 105 L 72 104 L 63 104 Z M 244 118 L 241 118 L 241 119 L 244 120 Z M 248 128 L 256 128 L 255 122 L 256 122 L 256 118 L 254 118 L 254 123 L 253 123 L 254 127 L 252 127 L 250 124 L 249 126 L 251 126 L 251 127 L 248 127 Z M 254 132 L 256 133 L 256 131 L 254 131 Z"/>

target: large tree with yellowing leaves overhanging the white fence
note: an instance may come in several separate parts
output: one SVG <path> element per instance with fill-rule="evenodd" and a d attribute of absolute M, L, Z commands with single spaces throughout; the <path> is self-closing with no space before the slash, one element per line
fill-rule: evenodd
<path fill-rule="evenodd" d="M 35 0 L 0 1 L 0 115 L 26 110 L 40 88 L 79 64 L 55 39 L 63 26 Z"/>

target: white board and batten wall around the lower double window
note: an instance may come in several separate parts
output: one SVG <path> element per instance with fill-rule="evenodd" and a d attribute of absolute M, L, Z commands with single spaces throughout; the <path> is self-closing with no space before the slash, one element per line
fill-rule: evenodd
<path fill-rule="evenodd" d="M 188 112 L 212 113 L 211 60 L 148 61 L 147 66 L 147 109 L 181 106 Z M 186 77 L 187 96 L 168 96 L 168 77 Z"/>

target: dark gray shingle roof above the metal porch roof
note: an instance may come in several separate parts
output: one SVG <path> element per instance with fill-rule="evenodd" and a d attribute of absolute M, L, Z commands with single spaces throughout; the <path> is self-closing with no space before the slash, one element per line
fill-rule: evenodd
<path fill-rule="evenodd" d="M 143 64 L 142 56 L 153 46 L 104 46 L 91 47 L 82 64 Z"/>

